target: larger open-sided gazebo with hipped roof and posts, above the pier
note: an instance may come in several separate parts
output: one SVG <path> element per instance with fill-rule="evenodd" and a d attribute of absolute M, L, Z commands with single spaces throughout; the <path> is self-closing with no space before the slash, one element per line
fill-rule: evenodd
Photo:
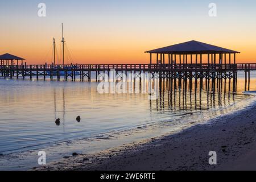
<path fill-rule="evenodd" d="M 203 61 L 208 64 L 236 64 L 236 54 L 240 52 L 192 40 L 145 53 L 150 53 L 150 64 L 154 64 L 152 54 L 155 54 L 156 64 L 202 65 Z"/>

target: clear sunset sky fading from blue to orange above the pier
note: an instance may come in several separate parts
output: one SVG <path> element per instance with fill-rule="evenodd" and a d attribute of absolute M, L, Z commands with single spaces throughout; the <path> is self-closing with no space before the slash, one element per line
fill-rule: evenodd
<path fill-rule="evenodd" d="M 40 2 L 46 18 L 38 16 Z M 240 51 L 240 63 L 256 61 L 255 0 L 0 0 L 0 21 L 0 54 L 28 64 L 51 62 L 53 37 L 60 53 L 61 22 L 74 63 L 148 63 L 144 51 L 189 40 Z"/>

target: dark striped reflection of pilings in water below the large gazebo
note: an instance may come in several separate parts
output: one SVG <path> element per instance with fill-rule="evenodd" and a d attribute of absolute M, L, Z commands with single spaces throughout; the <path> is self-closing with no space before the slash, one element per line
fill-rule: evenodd
<path fill-rule="evenodd" d="M 236 82 L 223 78 L 200 82 L 163 78 L 159 84 L 157 110 L 204 110 L 230 105 L 237 90 Z"/>

